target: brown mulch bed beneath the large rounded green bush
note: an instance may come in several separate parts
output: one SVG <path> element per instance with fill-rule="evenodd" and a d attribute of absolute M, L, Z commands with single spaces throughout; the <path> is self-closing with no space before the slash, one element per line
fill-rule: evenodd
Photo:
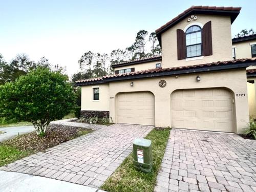
<path fill-rule="evenodd" d="M 36 132 L 31 132 L 1 144 L 17 147 L 21 151 L 39 152 L 90 132 L 93 131 L 81 127 L 51 124 L 45 137 L 38 137 Z"/>

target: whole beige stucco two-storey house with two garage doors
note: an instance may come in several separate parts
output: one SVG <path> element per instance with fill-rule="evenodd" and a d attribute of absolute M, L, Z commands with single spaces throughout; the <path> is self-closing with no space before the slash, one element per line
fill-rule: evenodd
<path fill-rule="evenodd" d="M 79 80 L 81 115 L 115 123 L 242 133 L 249 110 L 246 68 L 232 58 L 241 8 L 192 6 L 156 30 L 162 56 L 118 63 L 115 75 Z"/>

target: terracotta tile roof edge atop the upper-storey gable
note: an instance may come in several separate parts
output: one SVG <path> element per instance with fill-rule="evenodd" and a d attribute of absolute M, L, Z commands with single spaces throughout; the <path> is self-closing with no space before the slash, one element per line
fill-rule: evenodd
<path fill-rule="evenodd" d="M 176 20 L 178 20 L 180 17 L 185 15 L 187 12 L 190 12 L 193 9 L 204 9 L 204 10 L 223 10 L 223 11 L 240 11 L 241 7 L 216 7 L 216 6 L 191 6 L 182 13 L 180 13 L 177 17 L 174 17 L 172 20 L 167 22 L 165 25 L 161 26 L 156 30 L 156 33 L 164 29 L 166 26 L 174 23 Z"/>

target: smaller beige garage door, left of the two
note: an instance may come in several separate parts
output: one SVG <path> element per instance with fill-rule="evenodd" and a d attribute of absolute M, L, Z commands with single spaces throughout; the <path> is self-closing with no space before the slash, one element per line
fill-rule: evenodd
<path fill-rule="evenodd" d="M 155 125 L 155 99 L 150 92 L 117 95 L 117 122 Z"/>

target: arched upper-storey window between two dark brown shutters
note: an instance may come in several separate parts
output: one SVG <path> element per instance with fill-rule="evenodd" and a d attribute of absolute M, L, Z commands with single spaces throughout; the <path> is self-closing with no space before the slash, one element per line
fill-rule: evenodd
<path fill-rule="evenodd" d="M 202 29 L 191 26 L 186 30 L 186 57 L 202 56 Z"/>

